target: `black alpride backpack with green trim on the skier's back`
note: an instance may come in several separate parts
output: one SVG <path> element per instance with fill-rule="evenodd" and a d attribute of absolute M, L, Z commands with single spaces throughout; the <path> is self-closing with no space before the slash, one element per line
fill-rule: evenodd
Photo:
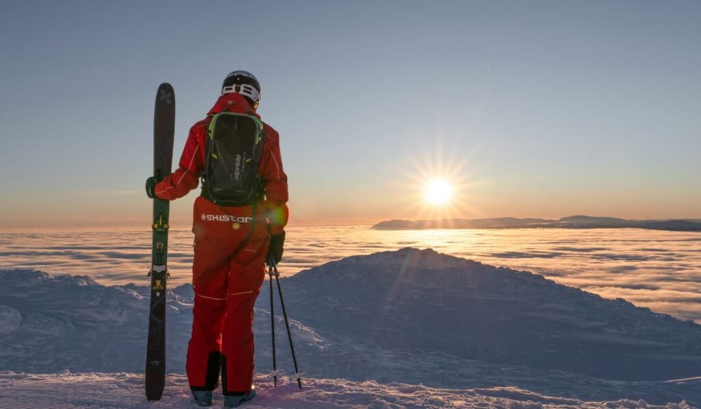
<path fill-rule="evenodd" d="M 265 133 L 256 116 L 220 112 L 207 128 L 202 189 L 220 206 L 245 206 L 263 199 L 258 165 Z"/>

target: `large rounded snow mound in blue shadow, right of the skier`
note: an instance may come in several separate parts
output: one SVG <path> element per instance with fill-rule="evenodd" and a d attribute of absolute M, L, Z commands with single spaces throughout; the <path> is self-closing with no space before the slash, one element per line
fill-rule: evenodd
<path fill-rule="evenodd" d="M 403 250 L 348 257 L 285 281 L 291 314 L 369 349 L 615 380 L 701 375 L 701 326 L 526 271 Z"/>

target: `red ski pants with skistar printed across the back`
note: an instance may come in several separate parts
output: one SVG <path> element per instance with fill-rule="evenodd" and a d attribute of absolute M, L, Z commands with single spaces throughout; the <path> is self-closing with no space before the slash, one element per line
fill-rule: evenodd
<path fill-rule="evenodd" d="M 198 197 L 193 232 L 195 292 L 187 377 L 193 390 L 245 394 L 253 380 L 253 305 L 265 280 L 269 234 L 251 206 L 219 207 Z M 253 229 L 253 231 L 251 231 Z"/>

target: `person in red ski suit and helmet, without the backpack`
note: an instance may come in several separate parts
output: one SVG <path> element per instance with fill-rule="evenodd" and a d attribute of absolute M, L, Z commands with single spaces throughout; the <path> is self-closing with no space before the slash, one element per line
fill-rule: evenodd
<path fill-rule="evenodd" d="M 189 133 L 179 168 L 152 187 L 159 199 L 173 200 L 198 186 L 205 168 L 206 131 L 211 115 L 237 112 L 258 116 L 260 86 L 245 71 L 229 74 L 222 96 Z M 259 116 L 258 116 L 259 117 Z M 264 199 L 247 206 L 219 206 L 203 190 L 195 200 L 192 283 L 195 293 L 187 376 L 200 405 L 210 405 L 222 370 L 225 405 L 238 406 L 255 394 L 253 305 L 265 280 L 268 254 L 280 261 L 287 223 L 287 175 L 278 133 L 264 123 L 258 173 Z M 255 212 L 255 214 L 254 214 Z"/>

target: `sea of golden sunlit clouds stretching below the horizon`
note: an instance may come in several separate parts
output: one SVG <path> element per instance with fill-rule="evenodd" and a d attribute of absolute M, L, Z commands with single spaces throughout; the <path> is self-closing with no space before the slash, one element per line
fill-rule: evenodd
<path fill-rule="evenodd" d="M 147 283 L 151 232 L 0 234 L 0 268 L 85 274 L 102 283 Z M 172 230 L 171 283 L 189 282 L 192 234 Z M 604 297 L 701 322 L 701 234 L 642 229 L 379 231 L 367 226 L 288 227 L 283 275 L 348 255 L 433 248 L 543 274 Z"/>

